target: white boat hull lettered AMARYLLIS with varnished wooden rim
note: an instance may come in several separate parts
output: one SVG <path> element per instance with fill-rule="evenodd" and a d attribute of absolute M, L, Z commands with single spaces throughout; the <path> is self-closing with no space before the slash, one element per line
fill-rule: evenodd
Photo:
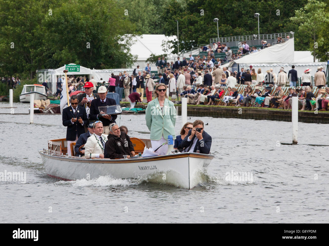
<path fill-rule="evenodd" d="M 151 182 L 192 189 L 204 182 L 212 155 L 180 153 L 136 159 L 84 159 L 39 151 L 48 175 L 63 180 L 146 178 Z"/>

